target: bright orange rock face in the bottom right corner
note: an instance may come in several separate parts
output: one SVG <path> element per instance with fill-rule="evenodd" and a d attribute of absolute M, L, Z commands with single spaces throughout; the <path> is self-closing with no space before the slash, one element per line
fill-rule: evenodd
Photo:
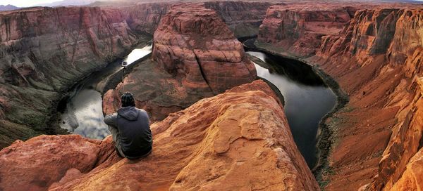
<path fill-rule="evenodd" d="M 420 67 L 421 65 L 422 62 L 419 62 Z M 416 92 L 414 99 L 405 119 L 393 128 L 391 140 L 379 162 L 379 172 L 372 183 L 372 190 L 423 188 L 422 181 L 419 180 L 423 176 L 423 78 L 415 80 L 411 84 Z"/>

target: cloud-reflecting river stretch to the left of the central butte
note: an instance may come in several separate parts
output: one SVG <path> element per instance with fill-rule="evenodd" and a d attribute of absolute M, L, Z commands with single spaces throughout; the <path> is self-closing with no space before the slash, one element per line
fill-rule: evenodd
<path fill-rule="evenodd" d="M 121 61 L 128 62 L 128 65 L 145 57 L 152 51 L 152 45 L 144 48 L 135 48 L 123 60 L 110 63 L 99 72 L 93 72 L 90 77 L 78 83 L 73 91 L 69 93 L 66 108 L 61 111 L 61 128 L 69 132 L 79 134 L 87 138 L 105 138 L 110 134 L 104 124 L 102 94 L 96 89 L 102 79 L 122 70 Z"/>

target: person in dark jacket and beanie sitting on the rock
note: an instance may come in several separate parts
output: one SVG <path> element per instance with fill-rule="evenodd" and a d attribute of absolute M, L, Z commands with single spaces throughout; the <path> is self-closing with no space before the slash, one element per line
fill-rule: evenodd
<path fill-rule="evenodd" d="M 135 107 L 132 93 L 123 93 L 121 109 L 107 115 L 104 123 L 109 125 L 119 156 L 138 159 L 147 157 L 152 152 L 152 131 L 149 129 L 148 114 Z"/>

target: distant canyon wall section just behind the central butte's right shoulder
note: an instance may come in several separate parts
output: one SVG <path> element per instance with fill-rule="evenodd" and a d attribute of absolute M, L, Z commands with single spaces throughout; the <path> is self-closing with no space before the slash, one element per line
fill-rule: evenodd
<path fill-rule="evenodd" d="M 259 27 L 271 4 L 267 2 L 212 1 L 205 2 L 204 6 L 219 13 L 235 37 L 241 38 L 259 34 Z"/>

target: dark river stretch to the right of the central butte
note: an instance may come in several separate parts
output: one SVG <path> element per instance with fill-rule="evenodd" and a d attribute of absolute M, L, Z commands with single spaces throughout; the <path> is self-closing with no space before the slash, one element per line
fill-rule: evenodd
<path fill-rule="evenodd" d="M 268 68 L 255 64 L 257 75 L 271 81 L 281 91 L 295 143 L 312 167 L 316 162 L 317 127 L 321 117 L 335 105 L 335 95 L 304 63 L 258 51 L 246 53 L 266 62 Z"/>

